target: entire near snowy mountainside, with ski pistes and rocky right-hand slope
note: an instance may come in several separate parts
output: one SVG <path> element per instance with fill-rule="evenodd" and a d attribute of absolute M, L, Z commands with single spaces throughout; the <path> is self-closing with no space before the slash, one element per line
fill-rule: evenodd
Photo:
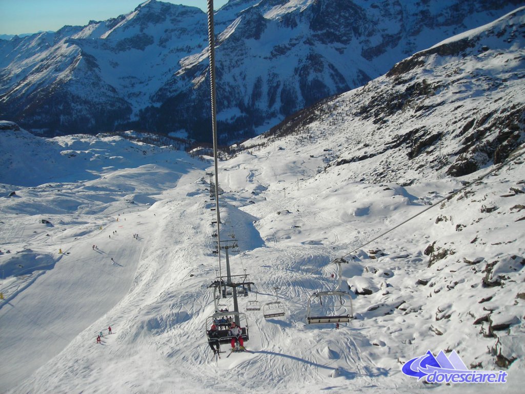
<path fill-rule="evenodd" d="M 521 393 L 524 28 L 520 8 L 416 53 L 219 163 L 232 274 L 255 283 L 253 353 L 220 360 L 211 162 L 0 123 L 0 391 Z M 355 319 L 308 325 L 340 257 Z M 274 287 L 286 316 L 246 311 Z M 507 381 L 402 373 L 441 350 Z"/>

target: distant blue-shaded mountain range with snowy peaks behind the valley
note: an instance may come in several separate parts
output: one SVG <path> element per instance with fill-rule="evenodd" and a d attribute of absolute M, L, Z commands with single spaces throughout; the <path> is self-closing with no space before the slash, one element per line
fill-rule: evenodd
<path fill-rule="evenodd" d="M 222 143 L 364 85 L 521 2 L 230 1 L 216 12 Z M 127 15 L 0 41 L 0 117 L 42 135 L 141 129 L 209 141 L 207 20 L 149 0 Z"/>

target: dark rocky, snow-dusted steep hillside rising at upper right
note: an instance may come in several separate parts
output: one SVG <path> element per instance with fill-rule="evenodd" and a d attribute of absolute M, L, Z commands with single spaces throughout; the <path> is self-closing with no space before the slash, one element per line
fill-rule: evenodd
<path fill-rule="evenodd" d="M 504 162 L 523 145 L 524 48 L 522 7 L 407 57 L 364 87 L 295 113 L 268 138 L 338 133 L 341 146 L 352 149 L 330 155 L 328 165 L 347 168 L 359 162 L 354 177 L 371 182 L 409 185 L 423 172 L 471 174 Z M 371 142 L 378 139 L 381 143 Z M 367 170 L 371 161 L 379 168 Z M 516 194 L 521 193 L 510 189 L 506 196 Z M 480 208 L 481 214 L 497 211 L 497 205 Z M 436 224 L 447 221 L 441 215 Z M 454 225 L 460 232 L 465 224 Z M 428 254 L 433 264 L 450 253 Z"/>

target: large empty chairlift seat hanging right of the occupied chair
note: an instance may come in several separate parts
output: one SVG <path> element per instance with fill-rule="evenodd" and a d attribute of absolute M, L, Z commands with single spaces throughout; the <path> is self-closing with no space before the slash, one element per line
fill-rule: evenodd
<path fill-rule="evenodd" d="M 308 298 L 308 324 L 348 323 L 353 318 L 352 298 L 341 291 L 341 264 L 348 262 L 340 258 L 334 263 L 338 265 L 338 286 L 334 291 L 316 292 Z M 346 300 L 350 302 L 347 304 Z"/>

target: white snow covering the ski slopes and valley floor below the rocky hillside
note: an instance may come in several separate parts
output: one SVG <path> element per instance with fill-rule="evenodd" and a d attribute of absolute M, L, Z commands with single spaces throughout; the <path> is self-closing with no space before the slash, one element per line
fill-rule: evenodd
<path fill-rule="evenodd" d="M 513 344 L 523 338 L 523 301 L 506 300 L 515 299 L 523 281 L 525 271 L 512 256 L 523 256 L 524 234 L 514 222 L 519 214 L 510 211 L 516 201 L 499 195 L 521 179 L 523 164 L 474 186 L 482 201 L 456 198 L 359 248 L 425 208 L 422 200 L 435 202 L 458 183 L 429 179 L 402 188 L 362 183 L 338 175 L 339 168 L 319 172 L 325 141 L 280 141 L 220 162 L 221 217 L 241 250 L 230 256 L 232 274 L 246 269 L 262 304 L 275 300 L 278 286 L 286 316 L 246 312 L 247 347 L 254 353 L 215 362 L 204 336 L 213 313 L 207 286 L 218 269 L 206 183 L 211 162 L 114 137 L 40 139 L 22 130 L 4 131 L 2 140 L 2 149 L 18 144 L 19 160 L 65 163 L 22 177 L 18 186 L 2 185 L 2 391 L 420 392 L 426 386 L 401 374 L 402 362 L 428 349 L 454 349 L 467 366 L 481 361 L 482 369 L 498 370 L 490 347 L 518 358 L 505 392 L 519 391 L 523 349 Z M 1 179 L 7 177 L 3 170 Z M 11 190 L 16 195 L 8 198 Z M 454 230 L 476 222 L 478 208 L 492 202 L 500 214 Z M 435 224 L 437 215 L 451 221 Z M 475 236 L 488 242 L 473 246 Z M 453 246 L 456 255 L 429 269 L 423 251 L 434 240 Z M 337 267 L 330 263 L 354 248 L 358 252 L 342 267 L 344 282 L 372 293 L 353 297 L 356 318 L 339 330 L 307 325 L 308 297 L 337 286 Z M 465 264 L 461 256 L 476 263 Z M 481 289 L 485 273 L 478 272 L 496 258 L 490 279 L 507 275 L 516 283 Z M 478 304 L 486 295 L 494 297 L 491 303 Z M 239 299 L 242 312 L 253 299 Z M 510 336 L 484 337 L 472 325 L 469 314 L 478 318 L 490 305 L 495 323 L 511 324 Z M 459 389 L 465 390 L 435 388 Z"/>

